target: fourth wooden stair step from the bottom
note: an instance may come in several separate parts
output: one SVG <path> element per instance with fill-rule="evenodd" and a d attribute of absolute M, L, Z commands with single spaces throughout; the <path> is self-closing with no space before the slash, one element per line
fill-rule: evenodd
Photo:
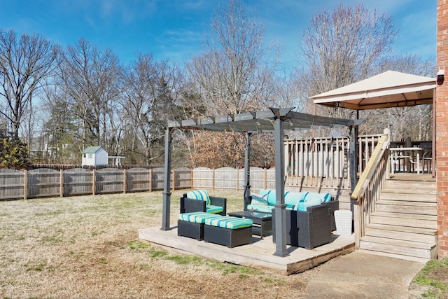
<path fill-rule="evenodd" d="M 435 202 L 404 202 L 400 200 L 379 200 L 377 202 L 377 211 L 437 216 L 437 204 Z"/>

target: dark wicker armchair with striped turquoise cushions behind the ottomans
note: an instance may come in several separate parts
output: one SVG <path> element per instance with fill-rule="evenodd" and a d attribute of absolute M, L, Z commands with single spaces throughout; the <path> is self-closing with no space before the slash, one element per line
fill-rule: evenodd
<path fill-rule="evenodd" d="M 207 190 L 188 191 L 181 197 L 181 214 L 204 211 L 211 214 L 227 215 L 227 199 L 210 196 Z"/>

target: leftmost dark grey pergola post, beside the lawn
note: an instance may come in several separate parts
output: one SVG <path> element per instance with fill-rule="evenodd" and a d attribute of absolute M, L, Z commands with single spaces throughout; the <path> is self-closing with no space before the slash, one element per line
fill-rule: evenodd
<path fill-rule="evenodd" d="M 163 200 L 162 200 L 162 228 L 169 230 L 169 213 L 171 205 L 171 132 L 169 127 L 165 131 L 165 179 L 163 181 Z"/>

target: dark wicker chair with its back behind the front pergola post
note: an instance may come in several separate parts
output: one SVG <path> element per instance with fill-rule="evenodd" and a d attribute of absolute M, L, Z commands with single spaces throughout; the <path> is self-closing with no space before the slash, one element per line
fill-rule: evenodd
<path fill-rule="evenodd" d="M 275 212 L 272 213 L 275 243 Z M 331 242 L 331 209 L 327 204 L 307 207 L 307 211 L 286 210 L 286 244 L 313 249 Z"/>

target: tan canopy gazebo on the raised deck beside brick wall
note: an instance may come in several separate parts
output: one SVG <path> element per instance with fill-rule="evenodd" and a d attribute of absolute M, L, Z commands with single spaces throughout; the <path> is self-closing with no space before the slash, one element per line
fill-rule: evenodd
<path fill-rule="evenodd" d="M 360 110 L 434 104 L 436 79 L 385 71 L 342 88 L 309 97 L 314 104 Z M 435 105 L 433 105 L 433 146 L 435 157 Z M 435 176 L 435 159 L 433 159 Z"/>

